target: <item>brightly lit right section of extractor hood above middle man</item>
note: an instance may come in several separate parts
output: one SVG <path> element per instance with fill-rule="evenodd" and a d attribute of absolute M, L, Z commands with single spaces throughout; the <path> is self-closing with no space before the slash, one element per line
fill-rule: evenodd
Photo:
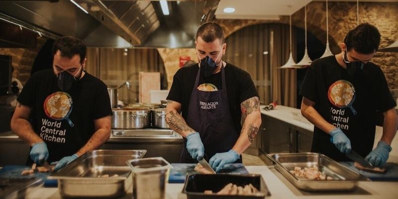
<path fill-rule="evenodd" d="M 134 47 L 194 47 L 196 30 L 214 17 L 219 0 L 167 1 L 164 15 L 158 0 L 77 0 L 103 25 Z"/>

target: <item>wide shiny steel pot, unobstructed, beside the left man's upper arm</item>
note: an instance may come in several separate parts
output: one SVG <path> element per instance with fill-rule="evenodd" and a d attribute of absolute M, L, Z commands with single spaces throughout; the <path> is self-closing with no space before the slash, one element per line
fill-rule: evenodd
<path fill-rule="evenodd" d="M 112 109 L 112 128 L 135 129 L 151 125 L 151 110 Z"/>

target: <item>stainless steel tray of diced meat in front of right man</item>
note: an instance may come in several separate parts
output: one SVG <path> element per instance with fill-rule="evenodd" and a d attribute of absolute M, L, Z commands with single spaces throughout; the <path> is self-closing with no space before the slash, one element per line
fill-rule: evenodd
<path fill-rule="evenodd" d="M 294 186 L 304 191 L 353 191 L 362 175 L 319 153 L 279 153 L 267 155 L 275 168 Z M 332 180 L 309 180 L 290 173 L 295 167 L 317 167 Z"/>

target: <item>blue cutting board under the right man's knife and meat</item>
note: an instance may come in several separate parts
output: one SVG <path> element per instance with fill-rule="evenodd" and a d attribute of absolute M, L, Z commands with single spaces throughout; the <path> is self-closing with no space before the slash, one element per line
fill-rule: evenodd
<path fill-rule="evenodd" d="M 383 166 L 387 171 L 385 174 L 372 173 L 372 172 L 359 170 L 354 167 L 354 162 L 340 162 L 340 163 L 366 176 L 371 181 L 398 181 L 398 164 L 393 162 L 388 162 Z"/>

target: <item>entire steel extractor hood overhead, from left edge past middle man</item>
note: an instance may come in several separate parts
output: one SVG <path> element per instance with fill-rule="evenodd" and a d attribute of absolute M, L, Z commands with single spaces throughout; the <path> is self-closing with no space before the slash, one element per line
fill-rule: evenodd
<path fill-rule="evenodd" d="M 159 1 L 6 0 L 0 2 L 0 19 L 23 23 L 49 38 L 71 35 L 89 47 L 194 47 L 199 25 L 212 20 L 219 0 L 167 1 L 163 15 Z M 1 47 L 1 46 L 0 46 Z"/>

